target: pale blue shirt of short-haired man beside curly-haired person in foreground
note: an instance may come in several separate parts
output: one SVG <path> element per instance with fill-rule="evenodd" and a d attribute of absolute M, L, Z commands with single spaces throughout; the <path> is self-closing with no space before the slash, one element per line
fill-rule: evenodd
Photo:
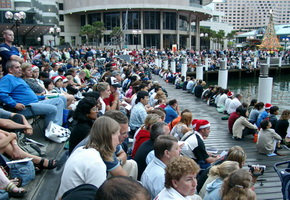
<path fill-rule="evenodd" d="M 142 185 L 150 192 L 153 198 L 164 188 L 165 168 L 166 165 L 154 157 L 141 176 Z"/>

